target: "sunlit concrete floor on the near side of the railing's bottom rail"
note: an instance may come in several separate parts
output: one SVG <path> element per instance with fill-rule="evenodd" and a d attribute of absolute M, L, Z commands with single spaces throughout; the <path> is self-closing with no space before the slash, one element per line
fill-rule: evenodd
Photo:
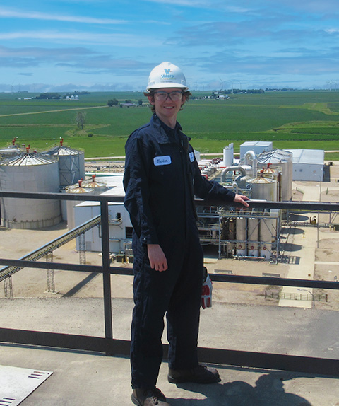
<path fill-rule="evenodd" d="M 126 358 L 2 344 L 0 364 L 53 371 L 23 406 L 132 405 Z M 218 370 L 220 383 L 173 385 L 162 364 L 158 387 L 172 406 L 339 405 L 336 378 L 231 366 Z"/>

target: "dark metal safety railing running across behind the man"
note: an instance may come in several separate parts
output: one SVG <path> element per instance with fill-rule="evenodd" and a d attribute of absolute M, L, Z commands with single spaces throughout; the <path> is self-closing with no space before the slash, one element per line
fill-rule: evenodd
<path fill-rule="evenodd" d="M 37 192 L 2 192 L 0 198 L 15 197 L 25 199 L 57 199 L 83 201 L 83 196 L 61 193 L 37 193 Z M 104 352 L 107 355 L 128 355 L 129 340 L 114 339 L 112 329 L 112 298 L 111 298 L 111 274 L 132 275 L 132 269 L 112 267 L 109 257 L 109 202 L 123 202 L 124 197 L 103 195 L 86 195 L 88 201 L 100 202 L 101 211 L 101 234 L 102 234 L 102 265 L 78 265 L 59 262 L 36 262 L 30 260 L 11 260 L 0 258 L 0 265 L 11 267 L 30 267 L 41 269 L 59 269 L 76 272 L 97 272 L 102 274 L 105 337 L 93 337 L 85 335 L 70 335 L 54 332 L 41 332 L 32 330 L 19 330 L 0 327 L 0 342 L 31 344 L 42 347 L 58 347 L 64 349 L 76 349 L 94 352 Z M 225 202 L 210 200 L 197 200 L 196 204 L 204 206 L 225 206 Z M 242 206 L 232 203 L 232 207 Z M 259 209 L 285 209 L 287 211 L 327 211 L 338 212 L 337 203 L 317 202 L 251 202 L 251 208 Z M 238 284 L 261 284 L 278 286 L 298 286 L 319 289 L 339 289 L 338 282 L 318 280 L 287 279 L 280 277 L 251 277 L 234 274 L 210 274 L 210 279 L 218 282 L 230 282 Z M 168 346 L 164 344 L 165 356 Z M 323 359 L 308 356 L 296 356 L 285 354 L 270 354 L 263 352 L 247 352 L 220 348 L 199 347 L 199 358 L 203 362 L 215 364 L 227 364 L 237 366 L 250 366 L 264 369 L 282 369 L 286 371 L 299 371 L 316 374 L 339 375 L 339 359 Z"/>

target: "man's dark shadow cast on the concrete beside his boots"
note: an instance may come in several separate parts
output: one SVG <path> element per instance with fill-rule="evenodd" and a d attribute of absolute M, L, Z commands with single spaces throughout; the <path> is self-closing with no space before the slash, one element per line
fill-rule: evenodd
<path fill-rule="evenodd" d="M 256 381 L 255 386 L 244 381 L 198 385 L 178 384 L 188 392 L 201 393 L 204 399 L 168 399 L 172 406 L 311 406 L 311 403 L 294 393 L 286 393 L 283 381 L 287 374 L 268 373 Z"/>

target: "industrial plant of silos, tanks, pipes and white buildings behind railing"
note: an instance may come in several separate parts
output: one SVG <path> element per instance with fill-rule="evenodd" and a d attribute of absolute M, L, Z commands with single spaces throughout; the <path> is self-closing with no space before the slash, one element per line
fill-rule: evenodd
<path fill-rule="evenodd" d="M 63 145 L 37 153 L 15 145 L 0 150 L 0 190 L 81 194 L 77 201 L 1 198 L 1 225 L 35 229 L 67 221 L 70 230 L 100 215 L 99 202 L 86 195 L 124 196 L 121 174 L 85 173 L 83 151 Z M 307 161 L 301 157 L 307 156 Z M 297 157 L 295 159 L 295 157 Z M 292 199 L 292 180 L 322 180 L 323 151 L 273 149 L 272 142 L 245 142 L 239 159 L 233 144 L 222 158 L 201 159 L 201 173 L 252 200 L 270 202 Z M 311 176 L 311 178 L 310 178 Z M 99 180 L 98 180 L 99 179 Z M 198 206 L 198 230 L 202 245 L 218 247 L 218 256 L 276 261 L 280 255 L 280 229 L 285 213 L 278 209 L 237 209 Z M 80 230 L 81 231 L 81 230 Z M 81 236 L 81 237 L 80 237 Z M 109 248 L 121 261 L 133 261 L 132 226 L 122 203 L 109 204 Z M 101 251 L 100 224 L 77 234 L 77 249 Z"/>

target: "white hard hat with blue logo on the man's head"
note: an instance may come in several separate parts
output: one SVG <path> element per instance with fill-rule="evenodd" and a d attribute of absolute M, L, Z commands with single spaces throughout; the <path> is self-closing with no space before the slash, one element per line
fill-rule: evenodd
<path fill-rule="evenodd" d="M 186 78 L 182 69 L 170 62 L 162 62 L 155 66 L 148 77 L 148 86 L 146 91 L 160 88 L 182 88 L 184 91 L 189 90 L 186 86 Z"/>

